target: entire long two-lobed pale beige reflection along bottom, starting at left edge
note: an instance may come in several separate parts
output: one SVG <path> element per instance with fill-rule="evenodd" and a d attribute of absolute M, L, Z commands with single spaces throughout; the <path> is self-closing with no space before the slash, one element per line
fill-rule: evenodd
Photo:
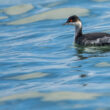
<path fill-rule="evenodd" d="M 11 100 L 25 100 L 30 98 L 40 98 L 42 101 L 65 101 L 65 100 L 93 100 L 102 94 L 97 93 L 84 93 L 84 92 L 51 92 L 51 93 L 40 93 L 40 92 L 27 92 L 22 94 L 14 94 L 11 96 L 4 96 L 0 98 L 0 102 Z"/>

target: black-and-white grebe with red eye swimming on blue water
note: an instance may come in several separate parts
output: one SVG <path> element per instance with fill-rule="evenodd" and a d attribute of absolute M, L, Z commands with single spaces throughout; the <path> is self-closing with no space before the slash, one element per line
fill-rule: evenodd
<path fill-rule="evenodd" d="M 110 34 L 107 33 L 82 33 L 82 22 L 78 16 L 70 16 L 64 25 L 75 26 L 75 43 L 82 46 L 110 45 Z"/>

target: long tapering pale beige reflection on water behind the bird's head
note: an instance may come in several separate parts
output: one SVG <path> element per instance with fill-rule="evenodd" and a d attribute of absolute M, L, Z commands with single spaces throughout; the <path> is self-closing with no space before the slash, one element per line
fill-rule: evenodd
<path fill-rule="evenodd" d="M 60 8 L 56 10 L 50 10 L 41 14 L 33 15 L 30 17 L 26 17 L 23 19 L 19 19 L 16 21 L 8 22 L 7 24 L 20 25 L 20 24 L 27 24 L 45 19 L 64 19 L 74 14 L 79 16 L 86 16 L 89 14 L 89 10 L 85 8 Z"/>

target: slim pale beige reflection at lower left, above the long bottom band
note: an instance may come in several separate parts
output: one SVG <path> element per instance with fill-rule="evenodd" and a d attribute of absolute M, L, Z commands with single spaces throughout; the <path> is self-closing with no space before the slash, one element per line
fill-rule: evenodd
<path fill-rule="evenodd" d="M 9 77 L 7 79 L 14 79 L 14 80 L 29 80 L 29 79 L 33 79 L 33 78 L 41 78 L 41 77 L 45 77 L 48 76 L 47 73 L 31 73 L 31 74 L 25 74 L 25 75 L 18 75 L 18 76 L 14 76 L 14 77 Z"/>

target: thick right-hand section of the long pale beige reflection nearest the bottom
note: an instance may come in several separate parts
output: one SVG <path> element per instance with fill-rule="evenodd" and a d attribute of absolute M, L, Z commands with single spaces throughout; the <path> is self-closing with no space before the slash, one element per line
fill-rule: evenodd
<path fill-rule="evenodd" d="M 53 92 L 44 95 L 43 101 L 92 100 L 99 96 L 96 93 Z"/>

